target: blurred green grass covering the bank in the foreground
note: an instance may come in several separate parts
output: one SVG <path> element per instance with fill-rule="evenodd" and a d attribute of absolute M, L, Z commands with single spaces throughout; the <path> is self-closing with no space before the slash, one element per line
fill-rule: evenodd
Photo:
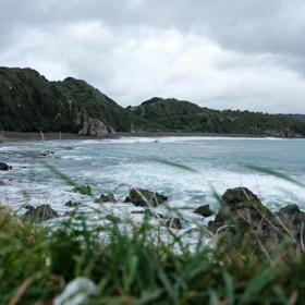
<path fill-rule="evenodd" d="M 302 304 L 305 254 L 290 241 L 266 254 L 251 235 L 224 234 L 190 251 L 170 231 L 164 243 L 146 222 L 89 229 L 77 215 L 51 231 L 1 207 L 0 304 L 51 304 L 77 277 L 96 283 L 82 304 Z"/>

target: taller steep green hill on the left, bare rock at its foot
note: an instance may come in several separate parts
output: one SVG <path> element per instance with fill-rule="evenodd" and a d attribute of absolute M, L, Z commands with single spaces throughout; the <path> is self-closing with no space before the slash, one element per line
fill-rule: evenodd
<path fill-rule="evenodd" d="M 84 81 L 49 82 L 30 69 L 0 68 L 0 129 L 106 135 L 130 131 L 127 111 Z"/>

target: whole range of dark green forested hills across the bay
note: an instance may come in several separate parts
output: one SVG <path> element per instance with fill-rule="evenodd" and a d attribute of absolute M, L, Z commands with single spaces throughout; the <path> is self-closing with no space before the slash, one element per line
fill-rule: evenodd
<path fill-rule="evenodd" d="M 305 136 L 301 115 L 212 110 L 152 98 L 122 108 L 84 81 L 50 82 L 32 69 L 0 68 L 0 130 L 70 132 L 103 136 L 115 132 L 200 132 Z"/>

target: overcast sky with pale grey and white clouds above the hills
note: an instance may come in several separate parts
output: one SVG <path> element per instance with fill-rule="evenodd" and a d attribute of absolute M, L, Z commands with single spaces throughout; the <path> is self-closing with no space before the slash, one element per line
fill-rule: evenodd
<path fill-rule="evenodd" d="M 0 0 L 0 65 L 152 96 L 305 113 L 304 0 Z"/>

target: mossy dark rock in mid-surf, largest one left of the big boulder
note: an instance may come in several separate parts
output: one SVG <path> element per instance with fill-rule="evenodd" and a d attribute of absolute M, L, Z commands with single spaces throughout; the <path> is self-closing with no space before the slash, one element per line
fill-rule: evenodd
<path fill-rule="evenodd" d="M 143 188 L 132 188 L 129 196 L 125 198 L 125 203 L 133 203 L 135 206 L 152 206 L 156 207 L 168 199 L 167 196 L 150 192 Z"/>

